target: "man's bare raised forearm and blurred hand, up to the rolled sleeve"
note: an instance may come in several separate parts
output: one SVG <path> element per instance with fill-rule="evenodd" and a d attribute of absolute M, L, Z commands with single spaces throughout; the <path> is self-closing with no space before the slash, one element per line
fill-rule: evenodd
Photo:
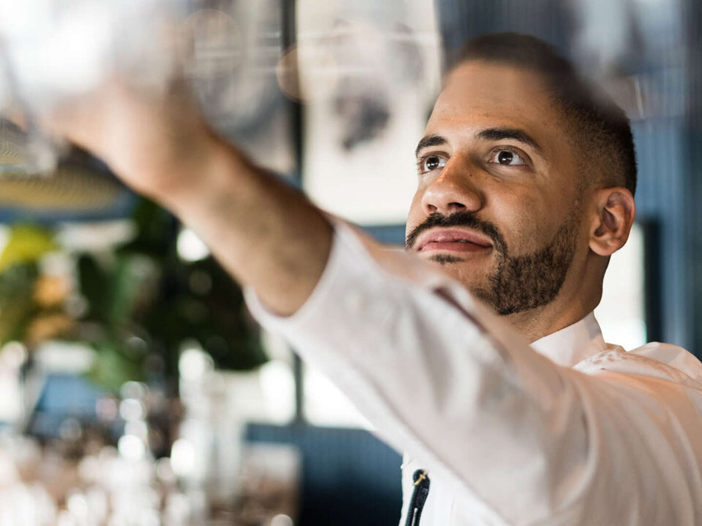
<path fill-rule="evenodd" d="M 272 311 L 294 313 L 314 290 L 331 224 L 213 133 L 182 86 L 156 96 L 112 82 L 44 123 L 176 213 Z"/>

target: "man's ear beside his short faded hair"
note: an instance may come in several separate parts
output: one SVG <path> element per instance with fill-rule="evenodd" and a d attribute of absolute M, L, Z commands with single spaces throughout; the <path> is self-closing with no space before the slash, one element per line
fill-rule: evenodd
<path fill-rule="evenodd" d="M 590 226 L 590 250 L 609 256 L 624 246 L 636 215 L 634 196 L 628 189 L 604 188 L 595 191 Z"/>

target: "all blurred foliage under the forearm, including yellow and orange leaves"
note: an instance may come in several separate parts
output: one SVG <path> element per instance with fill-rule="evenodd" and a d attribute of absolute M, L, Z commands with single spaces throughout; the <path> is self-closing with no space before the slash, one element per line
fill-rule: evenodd
<path fill-rule="evenodd" d="M 69 276 L 43 276 L 41 259 L 62 249 L 53 231 L 11 227 L 0 254 L 0 344 L 46 339 L 90 344 L 93 382 L 117 390 L 127 380 L 176 386 L 178 352 L 195 339 L 223 369 L 250 370 L 267 360 L 241 289 L 212 257 L 178 257 L 178 223 L 150 201 L 133 212 L 135 236 L 107 254 L 73 254 Z M 75 308 L 75 301 L 82 309 Z"/>

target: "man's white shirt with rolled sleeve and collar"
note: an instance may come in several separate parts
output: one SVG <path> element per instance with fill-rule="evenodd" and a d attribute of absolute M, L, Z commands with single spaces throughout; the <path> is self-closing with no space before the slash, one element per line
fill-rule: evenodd
<path fill-rule="evenodd" d="M 401 526 L 702 525 L 702 364 L 590 313 L 529 346 L 460 284 L 337 224 L 297 313 L 247 302 L 404 451 Z"/>

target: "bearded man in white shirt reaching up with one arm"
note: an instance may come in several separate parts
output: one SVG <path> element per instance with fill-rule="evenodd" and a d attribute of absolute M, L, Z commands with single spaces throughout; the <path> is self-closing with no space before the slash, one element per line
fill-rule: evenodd
<path fill-rule="evenodd" d="M 605 344 L 592 316 L 635 216 L 629 124 L 545 43 L 484 36 L 449 72 L 410 255 L 252 166 L 180 90 L 112 83 L 48 126 L 196 229 L 406 452 L 402 524 L 702 524 L 702 365 Z"/>

